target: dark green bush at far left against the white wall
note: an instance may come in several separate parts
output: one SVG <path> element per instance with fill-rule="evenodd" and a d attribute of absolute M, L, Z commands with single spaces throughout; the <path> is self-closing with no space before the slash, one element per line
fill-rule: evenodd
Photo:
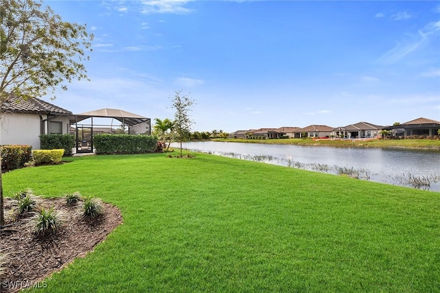
<path fill-rule="evenodd" d="M 24 167 L 30 160 L 31 145 L 1 145 L 1 172 Z"/>

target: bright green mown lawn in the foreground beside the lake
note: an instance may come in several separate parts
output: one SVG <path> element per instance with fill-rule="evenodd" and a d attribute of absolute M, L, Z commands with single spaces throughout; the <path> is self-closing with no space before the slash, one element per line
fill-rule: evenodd
<path fill-rule="evenodd" d="M 124 224 L 37 292 L 438 292 L 440 194 L 196 154 L 85 156 L 3 176 Z"/>

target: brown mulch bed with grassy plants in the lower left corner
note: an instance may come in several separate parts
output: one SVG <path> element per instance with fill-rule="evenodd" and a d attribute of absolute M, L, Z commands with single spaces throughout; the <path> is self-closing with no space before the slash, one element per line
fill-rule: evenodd
<path fill-rule="evenodd" d="M 63 213 L 64 221 L 55 234 L 36 237 L 29 216 L 13 219 L 14 202 L 12 198 L 4 199 L 6 225 L 0 230 L 0 249 L 8 255 L 8 262 L 0 279 L 2 293 L 40 285 L 76 257 L 84 257 L 122 224 L 120 210 L 112 204 L 103 204 L 104 213 L 99 218 L 86 220 L 81 215 L 81 202 L 68 207 L 65 198 L 39 198 L 39 207 L 54 207 Z"/>

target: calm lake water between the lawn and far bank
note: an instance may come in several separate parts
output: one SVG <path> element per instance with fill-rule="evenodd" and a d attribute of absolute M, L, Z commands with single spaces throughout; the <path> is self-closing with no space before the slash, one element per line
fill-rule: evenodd
<path fill-rule="evenodd" d="M 173 143 L 178 148 L 178 143 Z M 269 145 L 200 141 L 183 148 L 236 159 L 261 161 L 364 180 L 440 191 L 440 152 L 381 148 Z M 347 172 L 349 171 L 349 172 Z"/>

